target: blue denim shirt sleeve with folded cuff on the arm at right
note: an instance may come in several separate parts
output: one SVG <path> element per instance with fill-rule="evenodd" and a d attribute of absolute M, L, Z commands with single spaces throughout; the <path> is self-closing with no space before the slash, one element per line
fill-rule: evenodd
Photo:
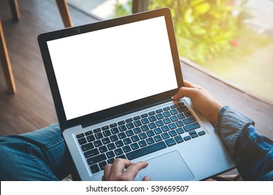
<path fill-rule="evenodd" d="M 253 120 L 222 107 L 215 130 L 237 160 L 244 180 L 273 180 L 273 141 L 255 132 Z"/>

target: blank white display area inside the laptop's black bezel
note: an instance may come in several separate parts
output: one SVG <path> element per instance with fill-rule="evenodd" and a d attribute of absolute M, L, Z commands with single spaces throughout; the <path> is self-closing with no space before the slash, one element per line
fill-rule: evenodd
<path fill-rule="evenodd" d="M 47 46 L 67 120 L 177 88 L 163 16 Z"/>

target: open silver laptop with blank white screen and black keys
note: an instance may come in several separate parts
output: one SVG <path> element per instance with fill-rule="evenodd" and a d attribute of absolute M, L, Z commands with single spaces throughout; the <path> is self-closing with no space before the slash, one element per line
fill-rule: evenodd
<path fill-rule="evenodd" d="M 204 180 L 233 157 L 183 86 L 169 8 L 38 36 L 59 125 L 82 180 L 117 158 L 152 180 Z"/>

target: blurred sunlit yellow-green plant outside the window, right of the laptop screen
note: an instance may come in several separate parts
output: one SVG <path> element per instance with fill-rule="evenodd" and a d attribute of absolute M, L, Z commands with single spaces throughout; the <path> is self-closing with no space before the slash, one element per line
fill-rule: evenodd
<path fill-rule="evenodd" d="M 170 8 L 179 54 L 202 64 L 238 45 L 235 37 L 244 9 L 233 4 L 228 0 L 153 0 L 149 9 Z"/>

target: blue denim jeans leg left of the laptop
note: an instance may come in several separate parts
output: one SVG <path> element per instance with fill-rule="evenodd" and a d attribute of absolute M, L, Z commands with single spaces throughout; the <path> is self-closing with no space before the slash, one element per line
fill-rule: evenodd
<path fill-rule="evenodd" d="M 58 123 L 27 134 L 0 137 L 0 180 L 62 180 L 73 170 Z"/>

